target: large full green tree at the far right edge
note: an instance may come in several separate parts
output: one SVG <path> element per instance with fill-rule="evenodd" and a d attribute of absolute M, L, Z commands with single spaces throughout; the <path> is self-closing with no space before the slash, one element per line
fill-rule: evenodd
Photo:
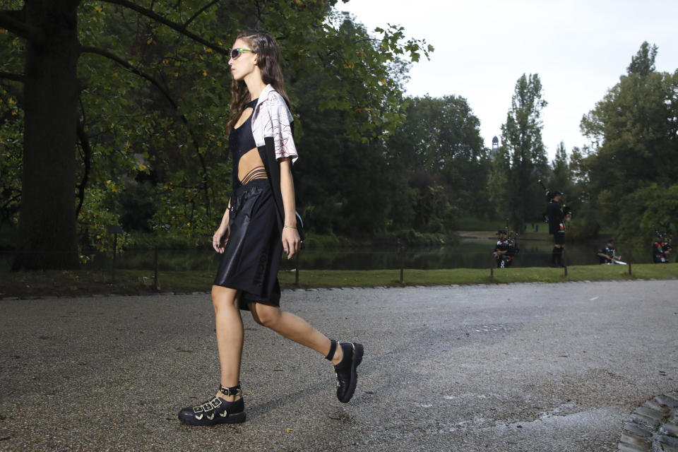
<path fill-rule="evenodd" d="M 678 165 L 678 71 L 654 71 L 656 53 L 644 42 L 626 75 L 581 121 L 592 143 L 583 168 L 595 221 L 620 227 L 629 238 L 647 232 L 639 219 L 650 201 L 641 194 L 678 182 L 672 170 Z"/>

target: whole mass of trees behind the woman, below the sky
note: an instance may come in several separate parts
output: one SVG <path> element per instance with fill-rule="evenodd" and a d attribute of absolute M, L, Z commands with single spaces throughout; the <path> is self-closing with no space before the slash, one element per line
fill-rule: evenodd
<path fill-rule="evenodd" d="M 281 44 L 311 232 L 442 237 L 462 215 L 520 231 L 540 219 L 538 179 L 566 192 L 578 237 L 614 228 L 640 244 L 678 227 L 678 71 L 656 71 L 655 45 L 584 115 L 590 144 L 560 143 L 549 165 L 537 74 L 516 81 L 490 156 L 464 97 L 403 95 L 433 47 L 337 3 L 6 1 L 0 228 L 18 231 L 15 268 L 75 266 L 111 248 L 109 225 L 123 244 L 211 234 L 231 191 L 227 54 L 243 28 Z"/>

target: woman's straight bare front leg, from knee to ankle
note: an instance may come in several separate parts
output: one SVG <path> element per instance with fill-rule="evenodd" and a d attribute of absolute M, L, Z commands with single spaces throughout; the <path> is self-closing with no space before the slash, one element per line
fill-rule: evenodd
<path fill-rule="evenodd" d="M 236 386 L 240 379 L 240 360 L 242 358 L 243 328 L 242 317 L 238 309 L 239 292 L 219 285 L 212 286 L 212 304 L 217 329 L 217 347 L 221 365 L 221 384 L 225 387 Z M 217 396 L 233 402 L 235 396 Z"/>

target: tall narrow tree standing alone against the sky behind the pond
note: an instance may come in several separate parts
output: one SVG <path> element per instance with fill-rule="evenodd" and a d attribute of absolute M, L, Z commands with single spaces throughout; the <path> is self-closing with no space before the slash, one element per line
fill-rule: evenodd
<path fill-rule="evenodd" d="M 504 150 L 500 154 L 506 164 L 495 165 L 495 169 L 506 174 L 493 172 L 492 178 L 505 182 L 492 184 L 505 199 L 500 213 L 506 215 L 518 231 L 524 229 L 526 221 L 539 218 L 545 203 L 543 192 L 537 189 L 537 180 L 544 179 L 548 169 L 541 119 L 546 105 L 539 76 L 523 74 L 516 82 L 506 123 L 501 126 Z"/>

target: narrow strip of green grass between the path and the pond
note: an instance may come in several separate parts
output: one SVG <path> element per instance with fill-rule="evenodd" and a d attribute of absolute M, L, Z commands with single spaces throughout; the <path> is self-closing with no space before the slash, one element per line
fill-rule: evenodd
<path fill-rule="evenodd" d="M 295 284 L 294 270 L 281 271 L 283 289 L 315 287 L 400 287 L 427 285 L 560 283 L 564 281 L 647 280 L 678 278 L 678 263 L 628 266 L 569 266 L 562 268 L 526 267 L 494 269 L 454 268 L 417 270 L 300 270 Z M 157 292 L 192 293 L 210 290 L 213 272 L 161 271 L 155 287 L 155 275 L 149 270 L 52 270 L 0 274 L 0 299 L 85 297 L 92 295 L 150 295 Z"/>

